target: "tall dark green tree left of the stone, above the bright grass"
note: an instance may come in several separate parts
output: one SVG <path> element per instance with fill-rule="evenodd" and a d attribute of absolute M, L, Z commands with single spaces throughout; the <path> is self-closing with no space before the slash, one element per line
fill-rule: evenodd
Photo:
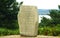
<path fill-rule="evenodd" d="M 0 0 L 0 27 L 18 28 L 16 25 L 18 14 L 16 0 Z"/>

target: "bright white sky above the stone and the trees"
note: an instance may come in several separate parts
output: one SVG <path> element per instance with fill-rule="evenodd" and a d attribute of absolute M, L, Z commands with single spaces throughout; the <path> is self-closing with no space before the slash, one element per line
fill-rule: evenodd
<path fill-rule="evenodd" d="M 23 5 L 37 6 L 38 9 L 58 9 L 60 0 L 17 0 L 23 1 Z"/>

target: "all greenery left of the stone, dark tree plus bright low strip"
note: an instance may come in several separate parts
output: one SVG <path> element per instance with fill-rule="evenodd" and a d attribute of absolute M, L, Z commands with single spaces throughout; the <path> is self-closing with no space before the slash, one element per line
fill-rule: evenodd
<path fill-rule="evenodd" d="M 16 0 L 0 0 L 0 36 L 19 34 Z"/>

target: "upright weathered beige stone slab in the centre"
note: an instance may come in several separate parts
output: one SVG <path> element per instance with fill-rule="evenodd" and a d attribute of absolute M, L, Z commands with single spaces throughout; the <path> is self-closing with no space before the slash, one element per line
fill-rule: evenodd
<path fill-rule="evenodd" d="M 25 36 L 37 36 L 38 13 L 35 6 L 21 6 L 18 13 L 20 34 Z"/>

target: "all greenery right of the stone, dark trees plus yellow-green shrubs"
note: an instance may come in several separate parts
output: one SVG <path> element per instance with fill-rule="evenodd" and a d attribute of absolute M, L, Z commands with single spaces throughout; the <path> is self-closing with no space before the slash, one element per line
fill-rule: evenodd
<path fill-rule="evenodd" d="M 60 7 L 59 7 L 60 8 Z M 43 17 L 39 24 L 38 34 L 60 36 L 60 9 L 50 10 L 51 19 Z"/>

